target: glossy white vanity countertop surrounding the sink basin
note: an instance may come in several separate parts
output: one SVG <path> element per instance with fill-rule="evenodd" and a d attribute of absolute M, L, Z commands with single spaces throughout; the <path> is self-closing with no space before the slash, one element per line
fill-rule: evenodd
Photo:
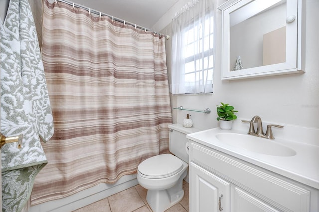
<path fill-rule="evenodd" d="M 305 185 L 319 189 L 319 146 L 311 142 L 296 142 L 275 138 L 270 142 L 278 142 L 296 151 L 294 156 L 273 156 L 248 151 L 244 148 L 228 145 L 215 136 L 217 133 L 234 132 L 247 135 L 242 130 L 221 130 L 213 128 L 187 134 L 187 138 L 207 147 L 224 152 L 259 167 L 293 179 Z M 210 135 L 209 137 L 207 135 Z M 251 135 L 249 135 L 251 136 Z M 276 137 L 276 135 L 275 135 Z M 315 139 L 316 136 L 314 136 Z M 261 138 L 265 139 L 265 138 Z M 316 142 L 313 142 L 316 143 Z"/>

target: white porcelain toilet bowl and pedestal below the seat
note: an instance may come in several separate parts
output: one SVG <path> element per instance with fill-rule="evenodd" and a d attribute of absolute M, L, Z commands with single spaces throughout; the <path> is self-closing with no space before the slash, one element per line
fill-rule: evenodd
<path fill-rule="evenodd" d="M 146 201 L 153 212 L 163 212 L 183 199 L 183 179 L 186 175 L 187 170 L 182 174 L 177 183 L 169 189 L 147 191 Z"/>

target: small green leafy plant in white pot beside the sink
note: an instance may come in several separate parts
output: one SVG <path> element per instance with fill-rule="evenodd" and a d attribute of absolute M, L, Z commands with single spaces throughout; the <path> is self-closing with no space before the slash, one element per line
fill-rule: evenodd
<path fill-rule="evenodd" d="M 219 127 L 221 129 L 231 129 L 232 120 L 237 119 L 237 116 L 234 114 L 238 112 L 233 106 L 230 106 L 228 103 L 224 104 L 221 102 L 221 106 L 217 105 L 217 121 L 219 122 Z"/>

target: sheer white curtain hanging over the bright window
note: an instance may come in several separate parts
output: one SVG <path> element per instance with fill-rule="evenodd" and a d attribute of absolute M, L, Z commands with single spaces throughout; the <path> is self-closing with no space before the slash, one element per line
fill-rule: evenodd
<path fill-rule="evenodd" d="M 214 1 L 193 0 L 173 18 L 172 94 L 213 92 Z"/>

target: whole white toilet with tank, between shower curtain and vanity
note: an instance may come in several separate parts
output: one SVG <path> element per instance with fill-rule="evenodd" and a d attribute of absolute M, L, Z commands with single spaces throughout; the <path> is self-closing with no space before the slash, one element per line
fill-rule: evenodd
<path fill-rule="evenodd" d="M 169 151 L 144 160 L 138 166 L 137 180 L 147 189 L 146 200 L 154 212 L 163 212 L 184 197 L 183 179 L 188 174 L 186 134 L 199 131 L 181 124 L 170 124 Z"/>

